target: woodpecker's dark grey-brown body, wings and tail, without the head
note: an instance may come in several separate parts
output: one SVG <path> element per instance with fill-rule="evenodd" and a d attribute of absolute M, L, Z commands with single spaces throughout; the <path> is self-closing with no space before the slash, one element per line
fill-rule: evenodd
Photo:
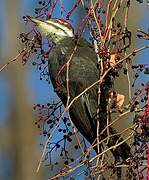
<path fill-rule="evenodd" d="M 74 53 L 68 69 L 68 77 L 66 67 L 59 74 L 60 81 L 62 83 L 61 91 L 57 91 L 58 96 L 66 106 L 68 98 L 68 87 L 70 93 L 70 101 L 77 97 L 86 88 L 96 82 L 99 77 L 99 70 L 96 66 L 96 54 L 89 43 L 82 43 Z M 72 47 L 71 47 L 72 46 Z M 55 52 L 49 57 L 49 72 L 52 84 L 54 88 L 57 88 L 56 76 L 61 67 L 70 60 L 71 53 L 74 49 L 74 44 L 67 46 L 68 51 L 65 55 L 62 54 L 59 48 L 55 49 Z M 70 49 L 70 52 L 69 52 Z M 68 79 L 67 79 L 68 78 Z M 67 87 L 67 81 L 68 87 Z M 80 98 L 78 98 L 69 109 L 69 113 L 74 125 L 82 133 L 82 135 L 92 144 L 97 137 L 97 119 L 95 118 L 98 108 L 98 85 L 90 88 Z M 104 92 L 103 92 L 104 93 Z M 103 104 L 103 107 L 106 104 Z M 106 126 L 106 117 L 104 115 L 99 118 L 100 130 Z M 115 134 L 116 131 L 110 127 L 110 134 Z M 106 133 L 102 135 L 101 139 L 105 138 Z M 119 136 L 110 138 L 109 147 L 114 145 L 119 139 Z M 128 157 L 130 148 L 127 143 L 124 143 L 120 147 L 116 148 L 115 152 L 123 159 Z M 125 153 L 126 152 L 126 153 Z"/>

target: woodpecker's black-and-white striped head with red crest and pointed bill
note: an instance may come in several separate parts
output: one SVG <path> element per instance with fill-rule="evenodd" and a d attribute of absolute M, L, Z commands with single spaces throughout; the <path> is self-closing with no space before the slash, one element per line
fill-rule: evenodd
<path fill-rule="evenodd" d="M 31 18 L 31 20 L 39 27 L 41 33 L 55 43 L 59 43 L 66 37 L 74 36 L 73 27 L 64 19 L 53 18 L 42 21 Z"/>

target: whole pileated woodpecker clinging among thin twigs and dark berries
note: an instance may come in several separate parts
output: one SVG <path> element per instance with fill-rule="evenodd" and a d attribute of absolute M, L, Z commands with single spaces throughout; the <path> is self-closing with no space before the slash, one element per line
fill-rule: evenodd
<path fill-rule="evenodd" d="M 73 27 L 63 19 L 49 19 L 41 21 L 32 19 L 38 25 L 41 32 L 55 43 L 55 48 L 49 54 L 48 68 L 54 89 L 62 100 L 64 106 L 67 103 L 67 78 L 66 66 L 62 68 L 76 46 Z M 69 95 L 70 100 L 79 95 L 83 90 L 99 79 L 97 68 L 97 57 L 92 45 L 84 38 L 77 42 L 77 49 L 74 52 L 69 64 Z M 106 88 L 105 88 L 106 86 Z M 94 86 L 78 98 L 70 107 L 70 117 L 80 133 L 92 144 L 97 138 L 97 121 L 99 121 L 99 134 L 106 127 L 107 117 L 107 87 L 111 87 L 111 80 L 107 76 L 101 86 L 101 100 L 98 105 L 98 86 Z M 99 115 L 97 118 L 97 109 Z M 109 133 L 116 134 L 116 130 L 109 127 Z M 107 137 L 106 131 L 100 135 L 100 140 Z M 109 138 L 108 146 L 115 145 L 121 138 L 118 135 Z M 97 148 L 95 148 L 97 152 Z M 111 150 L 114 157 L 126 160 L 130 154 L 130 147 L 123 143 L 115 150 Z"/>

